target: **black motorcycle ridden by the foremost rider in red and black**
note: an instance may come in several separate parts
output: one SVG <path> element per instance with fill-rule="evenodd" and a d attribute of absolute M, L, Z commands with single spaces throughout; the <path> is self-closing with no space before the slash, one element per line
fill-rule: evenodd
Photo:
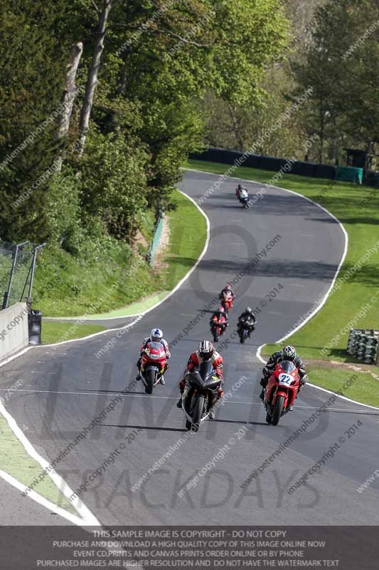
<path fill-rule="evenodd" d="M 187 430 L 197 432 L 201 422 L 208 418 L 217 400 L 219 386 L 220 378 L 215 375 L 210 362 L 202 362 L 188 374 L 182 397 Z"/>

